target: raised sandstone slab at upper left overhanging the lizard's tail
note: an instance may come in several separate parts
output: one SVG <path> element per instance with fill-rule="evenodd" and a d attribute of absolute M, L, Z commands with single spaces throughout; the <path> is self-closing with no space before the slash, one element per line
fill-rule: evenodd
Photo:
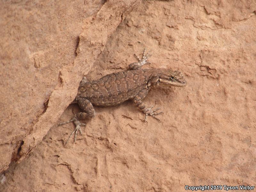
<path fill-rule="evenodd" d="M 0 172 L 42 141 L 139 2 L 80 3 L 2 4 Z"/>

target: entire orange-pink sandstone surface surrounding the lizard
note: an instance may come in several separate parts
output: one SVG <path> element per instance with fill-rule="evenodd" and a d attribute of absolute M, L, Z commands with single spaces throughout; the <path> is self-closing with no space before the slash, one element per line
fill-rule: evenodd
<path fill-rule="evenodd" d="M 0 191 L 183 191 L 255 185 L 255 1 L 8 1 L 0 3 Z M 179 69 L 187 86 L 146 104 L 95 107 L 76 143 L 82 77 Z M 141 56 L 141 54 L 140 54 Z M 67 108 L 68 107 L 68 108 Z M 67 110 L 65 110 L 67 108 Z M 63 113 L 63 111 L 65 112 Z"/>

